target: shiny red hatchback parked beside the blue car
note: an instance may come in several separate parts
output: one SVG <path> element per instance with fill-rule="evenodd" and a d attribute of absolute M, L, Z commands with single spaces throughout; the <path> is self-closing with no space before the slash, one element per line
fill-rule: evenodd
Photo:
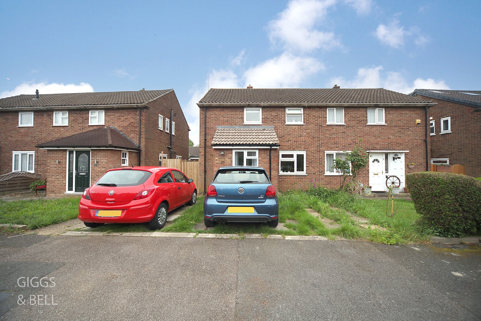
<path fill-rule="evenodd" d="M 149 222 L 157 230 L 164 227 L 168 212 L 196 201 L 193 180 L 175 168 L 114 168 L 84 191 L 78 218 L 88 227 Z"/>

